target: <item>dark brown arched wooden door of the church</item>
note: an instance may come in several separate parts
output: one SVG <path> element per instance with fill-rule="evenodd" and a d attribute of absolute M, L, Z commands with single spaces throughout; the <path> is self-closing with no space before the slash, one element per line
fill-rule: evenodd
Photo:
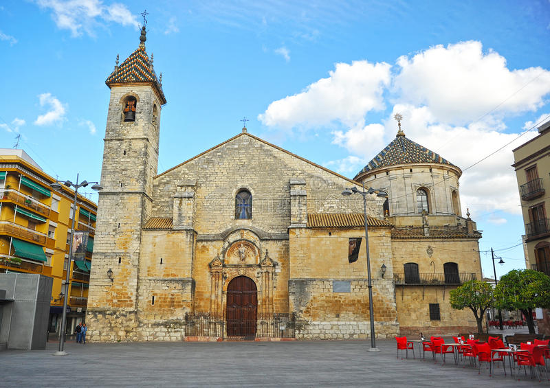
<path fill-rule="evenodd" d="M 237 276 L 228 284 L 227 335 L 255 336 L 258 293 L 250 277 Z"/>

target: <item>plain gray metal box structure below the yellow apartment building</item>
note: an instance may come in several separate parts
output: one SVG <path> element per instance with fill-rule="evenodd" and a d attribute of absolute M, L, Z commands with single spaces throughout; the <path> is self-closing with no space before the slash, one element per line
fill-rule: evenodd
<path fill-rule="evenodd" d="M 0 273 L 0 349 L 46 348 L 53 282 L 34 273 Z"/>

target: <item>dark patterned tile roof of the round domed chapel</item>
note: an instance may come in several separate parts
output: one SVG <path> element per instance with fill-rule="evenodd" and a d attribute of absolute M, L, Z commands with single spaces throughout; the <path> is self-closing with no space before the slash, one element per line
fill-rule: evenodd
<path fill-rule="evenodd" d="M 441 157 L 441 155 L 408 139 L 401 128 L 399 128 L 395 139 L 384 150 L 380 151 L 373 160 L 369 161 L 357 175 L 359 176 L 378 168 L 414 163 L 439 163 L 456 168 L 454 164 Z"/>

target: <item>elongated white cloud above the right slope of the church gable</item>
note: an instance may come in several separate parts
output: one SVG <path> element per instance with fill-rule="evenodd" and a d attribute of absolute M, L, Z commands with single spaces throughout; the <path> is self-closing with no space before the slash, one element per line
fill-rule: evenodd
<path fill-rule="evenodd" d="M 258 115 L 265 126 L 291 129 L 323 126 L 339 121 L 364 126 L 364 115 L 384 108 L 382 93 L 390 82 L 390 65 L 360 60 L 336 64 L 329 78 L 310 84 L 303 92 L 274 101 Z"/>

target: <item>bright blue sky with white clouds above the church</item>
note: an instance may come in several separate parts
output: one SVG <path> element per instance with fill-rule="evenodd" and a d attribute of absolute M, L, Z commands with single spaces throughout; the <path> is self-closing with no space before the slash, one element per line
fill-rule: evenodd
<path fill-rule="evenodd" d="M 52 176 L 98 180 L 104 80 L 137 48 L 144 9 L 168 100 L 159 172 L 247 117 L 250 133 L 353 178 L 395 137 L 399 112 L 407 137 L 464 170 L 484 275 L 491 247 L 520 244 L 511 149 L 550 115 L 548 0 L 3 0 L 0 147 L 21 134 Z M 525 266 L 521 245 L 497 254 L 498 277 Z"/>

